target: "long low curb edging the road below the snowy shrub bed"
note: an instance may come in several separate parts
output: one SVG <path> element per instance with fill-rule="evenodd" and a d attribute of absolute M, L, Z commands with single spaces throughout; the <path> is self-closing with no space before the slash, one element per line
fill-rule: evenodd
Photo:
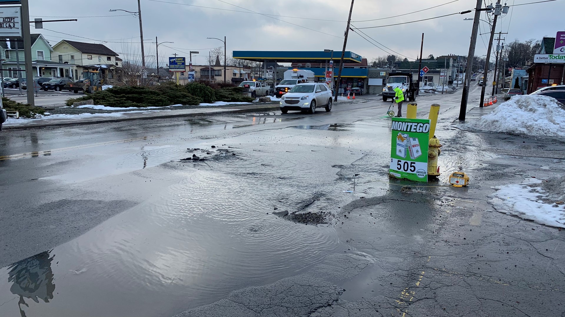
<path fill-rule="evenodd" d="M 54 122 L 49 124 L 30 124 L 30 125 L 20 125 L 20 126 L 2 126 L 2 130 L 25 130 L 34 129 L 37 127 L 49 127 L 49 126 L 69 126 L 69 125 L 89 125 L 89 124 L 105 124 L 110 122 L 121 122 L 121 121 L 133 121 L 133 120 L 152 120 L 152 119 L 168 119 L 177 117 L 197 117 L 197 116 L 215 116 L 215 115 L 225 115 L 227 113 L 245 113 L 254 111 L 270 111 L 274 109 L 279 109 L 279 105 L 266 105 L 257 108 L 248 109 L 234 109 L 226 111 L 216 111 L 216 112 L 193 112 L 193 113 L 181 113 L 176 115 L 153 115 L 146 117 L 135 117 L 135 118 L 114 118 L 114 119 L 104 119 L 104 120 L 88 120 L 88 121 L 78 121 L 78 122 Z"/>

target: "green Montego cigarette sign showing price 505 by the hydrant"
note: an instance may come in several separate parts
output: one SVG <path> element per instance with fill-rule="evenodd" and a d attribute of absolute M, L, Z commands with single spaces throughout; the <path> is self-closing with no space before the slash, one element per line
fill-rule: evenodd
<path fill-rule="evenodd" d="M 389 173 L 397 178 L 428 181 L 429 120 L 392 118 Z"/>

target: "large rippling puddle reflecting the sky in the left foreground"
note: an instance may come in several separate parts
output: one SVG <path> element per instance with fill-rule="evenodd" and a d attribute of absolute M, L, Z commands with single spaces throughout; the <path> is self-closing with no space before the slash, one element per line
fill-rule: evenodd
<path fill-rule="evenodd" d="M 169 316 L 298 274 L 338 248 L 332 228 L 271 213 L 264 188 L 284 179 L 186 177 L 77 239 L 0 270 L 0 315 Z"/>

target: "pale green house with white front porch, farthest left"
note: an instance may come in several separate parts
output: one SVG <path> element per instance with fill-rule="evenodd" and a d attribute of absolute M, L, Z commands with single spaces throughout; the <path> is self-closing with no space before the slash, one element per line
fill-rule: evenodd
<path fill-rule="evenodd" d="M 32 39 L 32 72 L 38 77 L 68 77 L 76 79 L 76 68 L 74 65 L 57 63 L 51 61 L 53 48 L 41 34 L 31 34 Z M 8 38 L 0 41 L 0 54 L 2 56 L 2 77 L 25 78 L 24 45 L 21 39 Z M 18 66 L 19 59 L 19 66 Z"/>

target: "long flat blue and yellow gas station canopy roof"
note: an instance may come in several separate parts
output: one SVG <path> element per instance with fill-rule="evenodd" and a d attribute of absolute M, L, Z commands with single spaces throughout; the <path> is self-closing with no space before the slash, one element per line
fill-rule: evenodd
<path fill-rule="evenodd" d="M 277 63 L 323 63 L 326 60 L 338 61 L 341 51 L 233 51 L 234 59 L 251 61 L 276 61 Z M 345 51 L 344 63 L 361 63 L 361 56 L 354 52 Z"/>

